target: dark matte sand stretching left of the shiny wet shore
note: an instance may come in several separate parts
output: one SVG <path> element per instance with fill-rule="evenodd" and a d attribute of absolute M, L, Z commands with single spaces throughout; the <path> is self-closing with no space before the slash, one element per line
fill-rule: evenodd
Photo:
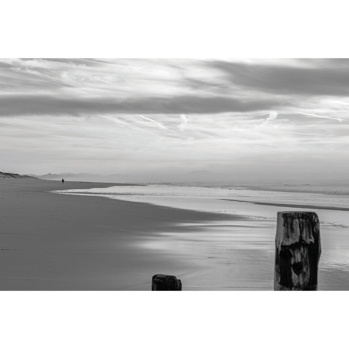
<path fill-rule="evenodd" d="M 0 290 L 150 290 L 157 273 L 185 290 L 205 263 L 144 246 L 159 232 L 185 232 L 177 223 L 227 215 L 49 192 L 110 185 L 0 178 Z"/>

